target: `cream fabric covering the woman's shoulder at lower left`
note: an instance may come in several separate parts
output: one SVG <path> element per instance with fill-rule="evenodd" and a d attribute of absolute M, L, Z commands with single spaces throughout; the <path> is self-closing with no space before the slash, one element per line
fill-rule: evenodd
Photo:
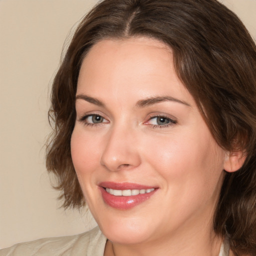
<path fill-rule="evenodd" d="M 82 234 L 15 244 L 1 249 L 1 256 L 102 256 L 106 237 L 98 227 Z"/>

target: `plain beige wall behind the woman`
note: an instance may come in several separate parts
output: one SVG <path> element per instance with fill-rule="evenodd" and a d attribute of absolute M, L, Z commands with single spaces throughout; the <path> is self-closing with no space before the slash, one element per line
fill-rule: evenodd
<path fill-rule="evenodd" d="M 256 0 L 223 2 L 256 38 Z M 43 148 L 47 95 L 63 42 L 94 3 L 0 0 L 0 248 L 94 225 L 84 212 L 58 209 Z"/>

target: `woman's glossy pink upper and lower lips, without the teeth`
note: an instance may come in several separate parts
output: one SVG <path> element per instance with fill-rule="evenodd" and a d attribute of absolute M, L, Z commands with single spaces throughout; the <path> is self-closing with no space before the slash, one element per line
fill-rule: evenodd
<path fill-rule="evenodd" d="M 153 187 L 136 184 L 136 183 L 129 183 L 129 182 L 115 183 L 115 182 L 107 181 L 107 182 L 99 183 L 99 190 L 101 192 L 104 202 L 113 208 L 122 209 L 122 210 L 130 209 L 144 202 L 145 200 L 150 198 L 154 194 L 154 192 L 157 190 L 157 188 L 155 188 L 153 191 L 149 193 L 130 195 L 130 196 L 116 196 L 106 192 L 105 187 L 117 189 L 117 190 L 147 189 L 147 188 L 153 188 Z"/>

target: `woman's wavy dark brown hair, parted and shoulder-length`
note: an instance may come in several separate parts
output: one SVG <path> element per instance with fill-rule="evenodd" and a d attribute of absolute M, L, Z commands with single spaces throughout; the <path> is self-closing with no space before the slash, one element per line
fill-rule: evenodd
<path fill-rule="evenodd" d="M 237 255 L 256 255 L 256 46 L 239 18 L 217 0 L 104 0 L 80 22 L 52 86 L 55 126 L 46 166 L 63 206 L 84 205 L 70 154 L 81 62 L 104 38 L 148 36 L 169 45 L 175 70 L 217 143 L 242 150 L 243 166 L 225 173 L 214 230 Z"/>

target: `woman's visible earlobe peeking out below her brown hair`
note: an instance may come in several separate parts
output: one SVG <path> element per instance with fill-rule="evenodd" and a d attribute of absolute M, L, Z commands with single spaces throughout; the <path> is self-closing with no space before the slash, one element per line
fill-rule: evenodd
<path fill-rule="evenodd" d="M 238 170 L 244 163 L 246 154 L 243 151 L 226 152 L 224 159 L 224 170 L 234 172 Z"/>

